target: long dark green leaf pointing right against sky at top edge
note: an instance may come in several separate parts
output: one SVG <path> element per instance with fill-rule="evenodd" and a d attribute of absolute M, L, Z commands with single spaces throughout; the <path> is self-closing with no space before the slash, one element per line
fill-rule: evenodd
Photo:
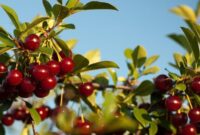
<path fill-rule="evenodd" d="M 116 7 L 109 3 L 99 2 L 99 1 L 91 1 L 85 4 L 82 8 L 83 10 L 94 10 L 94 9 L 112 9 L 118 10 Z"/>

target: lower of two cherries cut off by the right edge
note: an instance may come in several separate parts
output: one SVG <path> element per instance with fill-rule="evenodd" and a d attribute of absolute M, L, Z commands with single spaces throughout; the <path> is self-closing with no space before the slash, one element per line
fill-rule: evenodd
<path fill-rule="evenodd" d="M 200 108 L 193 108 L 189 111 L 188 116 L 192 123 L 200 122 Z"/>

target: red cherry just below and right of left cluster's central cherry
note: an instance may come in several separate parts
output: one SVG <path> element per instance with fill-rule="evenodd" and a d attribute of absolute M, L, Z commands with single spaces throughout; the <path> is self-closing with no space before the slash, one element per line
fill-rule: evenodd
<path fill-rule="evenodd" d="M 56 86 L 56 84 L 57 84 L 57 81 L 56 81 L 55 76 L 47 77 L 41 82 L 41 88 L 43 90 L 51 90 Z"/>

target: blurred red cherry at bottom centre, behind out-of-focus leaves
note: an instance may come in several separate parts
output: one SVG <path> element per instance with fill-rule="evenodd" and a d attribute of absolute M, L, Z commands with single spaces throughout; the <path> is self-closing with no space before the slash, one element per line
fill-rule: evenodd
<path fill-rule="evenodd" d="M 91 130 L 91 123 L 86 119 L 82 120 L 81 117 L 78 117 L 75 120 L 74 127 L 78 130 L 78 133 L 81 135 L 89 135 Z"/>

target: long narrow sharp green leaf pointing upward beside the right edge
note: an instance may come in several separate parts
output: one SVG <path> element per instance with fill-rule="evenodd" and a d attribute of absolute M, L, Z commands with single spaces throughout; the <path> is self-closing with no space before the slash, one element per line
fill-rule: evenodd
<path fill-rule="evenodd" d="M 197 38 L 195 37 L 194 33 L 192 31 L 190 31 L 190 29 L 182 27 L 182 30 L 185 33 L 185 35 L 190 43 L 190 47 L 192 48 L 193 55 L 197 62 L 199 59 L 199 45 L 198 45 Z"/>

